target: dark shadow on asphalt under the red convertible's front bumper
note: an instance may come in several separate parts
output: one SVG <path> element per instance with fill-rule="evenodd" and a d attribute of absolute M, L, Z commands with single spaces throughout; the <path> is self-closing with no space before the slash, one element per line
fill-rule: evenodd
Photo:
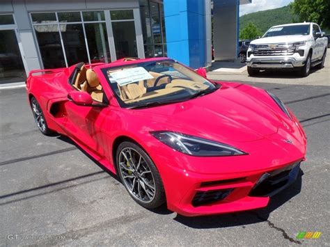
<path fill-rule="evenodd" d="M 245 225 L 267 221 L 270 213 L 278 207 L 281 207 L 284 203 L 290 203 L 290 199 L 300 193 L 302 175 L 304 175 L 304 173 L 300 170 L 296 182 L 294 182 L 294 184 L 288 189 L 285 189 L 284 191 L 281 191 L 281 193 L 272 197 L 269 201 L 269 205 L 263 209 L 231 214 L 219 214 L 215 216 L 186 217 L 177 214 L 174 220 L 182 223 L 182 225 L 188 226 L 189 228 L 196 229 L 228 228 L 233 226 L 242 226 L 242 228 L 245 228 Z"/>

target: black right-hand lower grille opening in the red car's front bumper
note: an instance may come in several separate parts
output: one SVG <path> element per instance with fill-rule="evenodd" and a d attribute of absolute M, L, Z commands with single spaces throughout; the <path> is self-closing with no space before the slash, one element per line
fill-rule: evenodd
<path fill-rule="evenodd" d="M 297 179 L 299 163 L 292 164 L 271 173 L 264 173 L 249 196 L 274 196 Z"/>

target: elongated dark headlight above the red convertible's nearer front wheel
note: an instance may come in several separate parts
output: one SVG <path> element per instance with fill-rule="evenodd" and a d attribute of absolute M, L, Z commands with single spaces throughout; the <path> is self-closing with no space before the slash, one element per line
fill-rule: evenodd
<path fill-rule="evenodd" d="M 215 157 L 246 154 L 230 145 L 177 132 L 160 131 L 150 132 L 150 134 L 171 148 L 192 156 Z"/>

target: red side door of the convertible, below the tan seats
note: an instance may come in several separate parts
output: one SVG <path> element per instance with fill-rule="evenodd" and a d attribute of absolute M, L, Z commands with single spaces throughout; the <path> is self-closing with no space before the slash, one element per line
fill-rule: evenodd
<path fill-rule="evenodd" d="M 72 90 L 78 89 L 72 87 Z M 104 98 L 107 99 L 107 95 Z M 65 105 L 67 113 L 65 129 L 68 135 L 101 158 L 109 158 L 111 153 L 106 137 L 111 111 L 107 100 L 105 101 L 102 102 L 105 104 L 102 107 L 98 101 L 95 101 L 95 104 L 99 106 L 81 106 L 72 101 L 68 101 Z"/>

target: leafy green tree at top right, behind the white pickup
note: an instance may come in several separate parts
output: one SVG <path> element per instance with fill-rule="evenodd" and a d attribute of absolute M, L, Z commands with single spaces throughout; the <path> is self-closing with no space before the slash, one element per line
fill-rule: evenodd
<path fill-rule="evenodd" d="M 329 0 L 294 0 L 290 8 L 299 22 L 316 22 L 322 29 L 330 29 Z"/>

